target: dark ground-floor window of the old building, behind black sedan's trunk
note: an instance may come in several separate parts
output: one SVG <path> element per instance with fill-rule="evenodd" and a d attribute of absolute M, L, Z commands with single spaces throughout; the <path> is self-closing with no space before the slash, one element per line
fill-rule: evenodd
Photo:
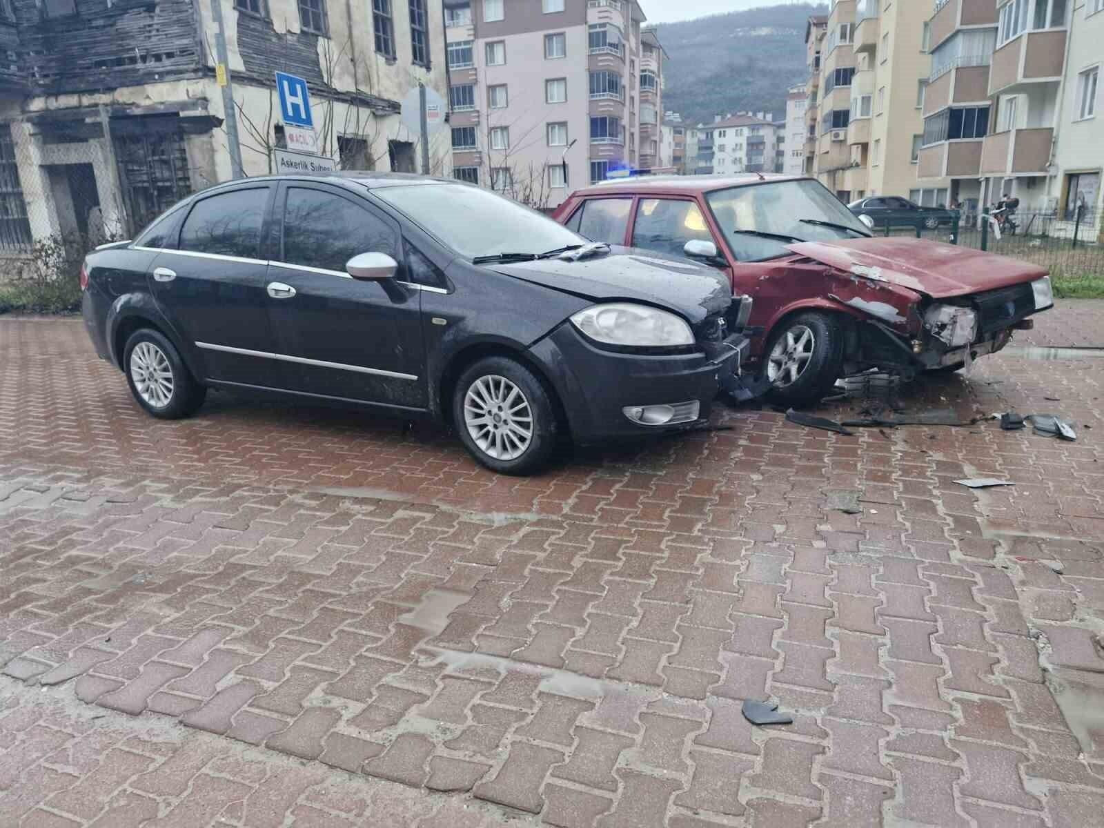
<path fill-rule="evenodd" d="M 114 123 L 112 131 L 131 226 L 145 226 L 191 193 L 188 153 L 180 132 L 157 132 L 139 125 L 117 127 Z"/>

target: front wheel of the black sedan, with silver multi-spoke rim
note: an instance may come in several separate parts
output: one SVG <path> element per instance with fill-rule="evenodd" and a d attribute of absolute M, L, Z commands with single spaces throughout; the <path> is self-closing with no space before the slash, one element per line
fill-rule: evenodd
<path fill-rule="evenodd" d="M 520 362 L 486 357 L 456 383 L 453 423 L 479 463 L 503 475 L 531 475 L 556 446 L 555 410 L 541 381 Z"/>

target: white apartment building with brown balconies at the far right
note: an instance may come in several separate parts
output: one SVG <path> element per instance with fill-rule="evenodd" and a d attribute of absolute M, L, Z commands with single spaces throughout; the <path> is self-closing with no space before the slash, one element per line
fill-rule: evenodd
<path fill-rule="evenodd" d="M 930 29 L 921 183 L 1059 220 L 1083 205 L 1098 231 L 1104 0 L 944 0 Z"/>

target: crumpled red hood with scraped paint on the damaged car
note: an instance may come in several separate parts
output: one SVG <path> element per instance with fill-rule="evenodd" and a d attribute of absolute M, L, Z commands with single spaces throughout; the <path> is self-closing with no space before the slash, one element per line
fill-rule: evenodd
<path fill-rule="evenodd" d="M 1045 268 L 1029 262 L 920 238 L 875 236 L 787 246 L 860 278 L 888 282 L 934 298 L 995 290 L 1047 275 Z"/>

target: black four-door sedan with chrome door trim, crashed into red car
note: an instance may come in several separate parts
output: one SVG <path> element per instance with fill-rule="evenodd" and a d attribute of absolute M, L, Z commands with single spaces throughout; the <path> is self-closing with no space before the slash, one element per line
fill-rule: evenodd
<path fill-rule="evenodd" d="M 561 436 L 692 425 L 747 348 L 716 270 L 416 176 L 214 187 L 93 252 L 81 283 L 96 350 L 156 417 L 209 388 L 428 415 L 507 474 Z"/>

